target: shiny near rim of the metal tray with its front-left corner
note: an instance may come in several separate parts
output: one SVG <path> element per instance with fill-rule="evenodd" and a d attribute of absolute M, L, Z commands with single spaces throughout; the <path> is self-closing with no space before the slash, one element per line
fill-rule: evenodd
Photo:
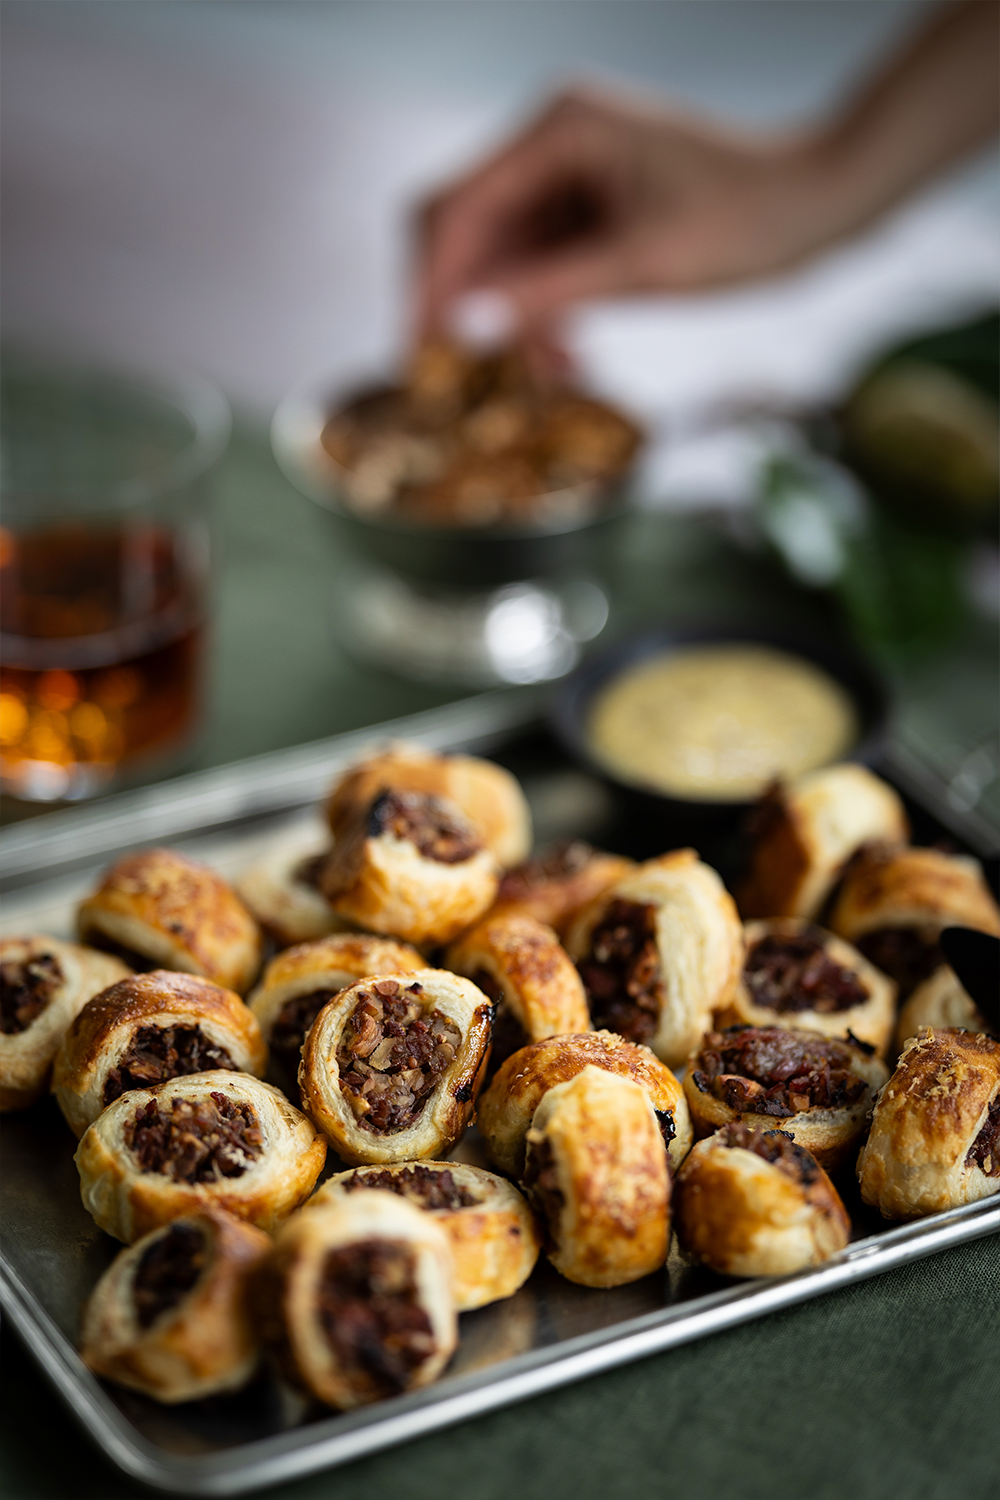
<path fill-rule="evenodd" d="M 790 1276 L 736 1282 L 360 1413 L 334 1414 L 195 1458 L 169 1455 L 136 1431 L 3 1256 L 0 1304 L 72 1413 L 118 1468 L 156 1490 L 235 1496 L 351 1462 L 997 1232 L 1000 1198 L 981 1198 L 855 1240 L 825 1264 Z"/>

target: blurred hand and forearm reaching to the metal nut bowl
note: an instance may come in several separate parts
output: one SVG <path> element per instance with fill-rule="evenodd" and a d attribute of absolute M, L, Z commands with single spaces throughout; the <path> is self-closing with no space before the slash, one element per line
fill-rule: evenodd
<path fill-rule="evenodd" d="M 421 216 L 417 321 L 501 292 L 544 346 L 573 302 L 766 276 L 850 234 L 997 129 L 1000 8 L 952 0 L 843 111 L 756 136 L 597 88 L 561 94 Z"/>

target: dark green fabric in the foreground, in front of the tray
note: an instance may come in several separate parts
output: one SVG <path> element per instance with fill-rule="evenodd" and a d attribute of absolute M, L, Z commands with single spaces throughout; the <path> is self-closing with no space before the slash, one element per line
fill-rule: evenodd
<path fill-rule="evenodd" d="M 261 1500 L 991 1500 L 1000 1272 L 978 1240 Z M 9 1340 L 10 1335 L 6 1335 Z M 148 1494 L 4 1344 L 4 1496 Z"/>

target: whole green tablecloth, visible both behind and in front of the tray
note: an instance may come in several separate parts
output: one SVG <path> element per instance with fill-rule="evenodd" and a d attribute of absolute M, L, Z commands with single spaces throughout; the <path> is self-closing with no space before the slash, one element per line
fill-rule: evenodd
<path fill-rule="evenodd" d="M 337 650 L 328 604 L 349 560 L 324 514 L 283 483 L 262 434 L 237 432 L 219 501 L 208 714 L 186 768 L 451 696 L 361 669 Z M 822 618 L 771 576 L 762 591 L 759 561 L 681 519 L 636 518 L 603 567 L 613 628 L 666 614 L 780 615 L 792 604 Z M 954 662 L 915 674 L 904 732 L 946 722 L 954 738 L 975 740 L 984 714 L 991 720 L 993 633 L 979 632 L 961 660 L 964 674 Z M 996 1240 L 978 1242 L 261 1496 L 985 1500 L 1000 1478 L 999 1280 Z M 7 1330 L 3 1354 L 6 1500 L 144 1492 L 81 1440 Z"/>

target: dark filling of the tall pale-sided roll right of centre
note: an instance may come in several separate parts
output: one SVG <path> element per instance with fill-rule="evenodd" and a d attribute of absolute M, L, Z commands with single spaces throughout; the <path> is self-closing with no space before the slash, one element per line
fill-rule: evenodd
<path fill-rule="evenodd" d="M 591 952 L 577 964 L 595 1030 L 649 1041 L 660 1020 L 663 986 L 657 909 L 615 900 L 591 933 Z"/>

